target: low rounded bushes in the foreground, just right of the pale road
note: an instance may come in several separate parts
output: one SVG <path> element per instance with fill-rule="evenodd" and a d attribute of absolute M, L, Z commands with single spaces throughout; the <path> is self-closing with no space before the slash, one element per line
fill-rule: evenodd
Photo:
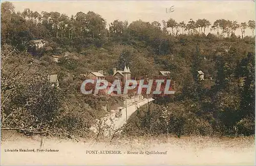
<path fill-rule="evenodd" d="M 167 114 L 163 114 L 163 106 L 158 104 L 150 104 L 142 106 L 129 119 L 129 123 L 125 126 L 125 134 L 127 135 L 159 135 L 163 133 L 171 133 L 176 135 L 211 135 L 214 130 L 211 124 L 189 113 L 185 106 L 180 104 L 168 105 Z M 169 115 L 165 117 L 165 115 Z M 167 121 L 168 123 L 167 123 Z"/>

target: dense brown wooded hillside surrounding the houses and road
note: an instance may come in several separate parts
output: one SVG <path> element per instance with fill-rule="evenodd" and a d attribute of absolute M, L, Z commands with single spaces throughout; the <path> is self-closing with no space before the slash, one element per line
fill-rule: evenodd
<path fill-rule="evenodd" d="M 127 65 L 133 78 L 170 71 L 176 93 L 139 108 L 123 134 L 254 134 L 254 20 L 115 20 L 107 28 L 93 11 L 69 17 L 14 9 L 2 3 L 2 129 L 88 134 L 95 119 L 104 116 L 102 106 L 122 99 L 81 94 L 79 74 L 103 70 L 111 75 L 113 68 Z M 47 43 L 28 52 L 35 39 Z M 62 56 L 59 63 L 52 55 Z M 198 79 L 199 70 L 205 80 Z M 60 89 L 49 86 L 48 74 L 59 75 Z"/>

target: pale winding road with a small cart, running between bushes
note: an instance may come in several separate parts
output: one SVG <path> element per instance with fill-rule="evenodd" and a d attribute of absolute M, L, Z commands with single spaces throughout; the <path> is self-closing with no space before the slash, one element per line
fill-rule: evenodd
<path fill-rule="evenodd" d="M 127 105 L 127 119 L 130 118 L 130 116 L 137 110 L 136 104 L 138 107 L 146 104 L 148 101 L 153 101 L 153 98 L 149 98 L 148 100 L 145 98 L 141 100 L 140 102 L 132 103 L 131 105 Z M 117 111 L 117 110 L 116 110 Z M 111 121 L 113 119 L 113 122 Z M 115 112 L 111 113 L 110 115 L 102 118 L 102 120 L 106 121 L 105 124 L 108 124 L 109 126 L 113 126 L 113 129 L 118 129 L 121 126 L 123 126 L 126 123 L 126 110 L 125 107 L 122 108 L 122 117 L 115 117 Z M 94 132 L 97 132 L 96 127 L 91 127 L 91 130 Z"/>

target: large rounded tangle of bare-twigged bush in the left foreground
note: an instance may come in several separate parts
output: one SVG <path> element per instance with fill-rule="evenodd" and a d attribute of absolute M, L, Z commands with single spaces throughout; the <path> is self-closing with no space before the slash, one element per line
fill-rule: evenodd
<path fill-rule="evenodd" d="M 62 95 L 47 80 L 37 80 L 8 95 L 2 127 L 33 134 L 54 128 L 61 114 Z"/>

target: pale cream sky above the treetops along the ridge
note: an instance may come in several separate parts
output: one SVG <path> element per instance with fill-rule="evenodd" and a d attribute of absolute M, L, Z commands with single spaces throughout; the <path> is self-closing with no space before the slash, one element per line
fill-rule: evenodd
<path fill-rule="evenodd" d="M 190 18 L 197 20 L 205 18 L 213 23 L 217 19 L 236 20 L 238 22 L 248 22 L 255 20 L 255 2 L 250 1 L 10 1 L 15 7 L 15 11 L 24 11 L 29 8 L 37 12 L 57 11 L 69 16 L 76 15 L 77 12 L 87 13 L 93 11 L 100 14 L 107 24 L 118 19 L 127 20 L 129 23 L 136 20 L 148 22 L 169 18 L 177 22 Z M 174 12 L 169 12 L 172 7 Z M 167 13 L 166 13 L 167 8 Z M 236 34 L 241 33 L 237 30 Z M 251 35 L 248 29 L 246 35 Z"/>

